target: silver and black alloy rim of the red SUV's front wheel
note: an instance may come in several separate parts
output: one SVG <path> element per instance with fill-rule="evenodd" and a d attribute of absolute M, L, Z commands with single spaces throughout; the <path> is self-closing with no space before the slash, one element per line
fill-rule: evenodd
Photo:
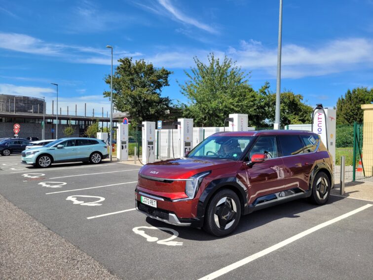
<path fill-rule="evenodd" d="M 234 221 L 236 220 L 237 215 L 237 205 L 229 197 L 224 197 L 218 201 L 216 204 L 216 210 L 214 213 L 215 224 L 218 228 L 222 230 L 229 229 Z"/>

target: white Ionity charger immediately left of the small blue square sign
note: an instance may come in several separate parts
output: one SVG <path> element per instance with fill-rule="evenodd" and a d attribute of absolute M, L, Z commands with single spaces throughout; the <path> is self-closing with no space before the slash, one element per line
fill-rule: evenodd
<path fill-rule="evenodd" d="M 155 161 L 155 121 L 143 121 L 143 164 Z"/>

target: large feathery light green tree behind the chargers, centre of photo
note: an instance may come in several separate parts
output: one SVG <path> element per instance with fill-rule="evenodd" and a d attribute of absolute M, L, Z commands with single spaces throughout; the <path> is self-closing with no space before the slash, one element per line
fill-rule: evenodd
<path fill-rule="evenodd" d="M 180 84 L 188 102 L 182 104 L 184 117 L 193 118 L 196 125 L 223 126 L 232 113 L 248 114 L 249 125 L 260 125 L 265 113 L 266 93 L 259 94 L 248 83 L 245 74 L 226 56 L 221 61 L 213 53 L 208 63 L 194 57 L 195 67 L 184 71 L 187 80 Z"/>

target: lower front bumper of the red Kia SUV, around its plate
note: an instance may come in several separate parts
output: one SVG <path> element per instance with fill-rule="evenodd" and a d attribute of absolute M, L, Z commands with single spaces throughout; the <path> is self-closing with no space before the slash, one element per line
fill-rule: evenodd
<path fill-rule="evenodd" d="M 152 219 L 175 226 L 192 228 L 201 228 L 203 226 L 203 219 L 199 217 L 180 218 L 182 213 L 184 213 L 185 215 L 185 212 L 188 212 L 187 209 L 189 210 L 189 215 L 192 216 L 191 210 L 193 207 L 190 207 L 190 200 L 178 202 L 173 202 L 171 200 L 165 201 L 163 198 L 155 197 L 144 192 L 139 192 L 137 189 L 135 191 L 135 194 L 136 209 Z M 141 203 L 141 196 L 157 200 L 157 208 Z"/>

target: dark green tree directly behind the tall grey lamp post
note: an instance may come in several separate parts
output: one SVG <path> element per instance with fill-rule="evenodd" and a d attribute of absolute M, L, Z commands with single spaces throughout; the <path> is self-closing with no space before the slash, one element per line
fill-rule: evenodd
<path fill-rule="evenodd" d="M 303 103 L 301 94 L 294 94 L 290 90 L 280 95 L 280 121 L 281 126 L 288 124 L 311 123 L 312 107 Z M 267 120 L 273 123 L 275 120 L 276 93 L 268 95 Z"/>

